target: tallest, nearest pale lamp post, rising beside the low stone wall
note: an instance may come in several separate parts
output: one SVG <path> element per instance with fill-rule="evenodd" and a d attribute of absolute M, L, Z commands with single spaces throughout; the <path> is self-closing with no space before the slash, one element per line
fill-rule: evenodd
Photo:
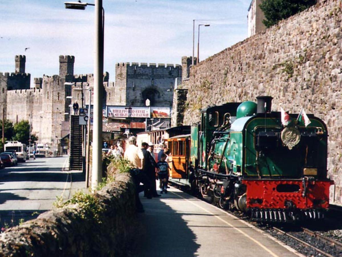
<path fill-rule="evenodd" d="M 94 115 L 93 115 L 93 162 L 92 190 L 102 179 L 102 85 L 103 85 L 103 43 L 104 43 L 104 9 L 102 0 L 95 4 L 65 2 L 65 8 L 84 10 L 87 5 L 95 7 L 95 58 L 94 58 Z"/>

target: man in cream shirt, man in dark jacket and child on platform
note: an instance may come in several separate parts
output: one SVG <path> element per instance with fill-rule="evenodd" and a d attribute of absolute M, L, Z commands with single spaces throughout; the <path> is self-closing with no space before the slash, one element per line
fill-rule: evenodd
<path fill-rule="evenodd" d="M 131 136 L 128 139 L 128 147 L 124 152 L 124 158 L 129 160 L 133 166 L 131 174 L 136 185 L 136 207 L 138 212 L 144 212 L 143 206 L 139 199 L 139 193 L 144 191 L 144 196 L 148 199 L 152 197 L 160 197 L 161 195 L 157 193 L 156 188 L 156 169 L 159 177 L 159 187 L 160 193 L 167 193 L 167 181 L 169 177 L 170 167 L 168 165 L 167 151 L 165 151 L 165 146 L 158 153 L 158 160 L 155 160 L 153 154 L 154 145 L 152 143 L 143 142 L 141 148 L 136 145 L 136 137 Z M 140 186 L 140 183 L 143 186 Z"/>

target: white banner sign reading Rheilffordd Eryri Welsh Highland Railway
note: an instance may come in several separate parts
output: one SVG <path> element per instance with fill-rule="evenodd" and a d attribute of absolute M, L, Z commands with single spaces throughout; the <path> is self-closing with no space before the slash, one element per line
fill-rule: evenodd
<path fill-rule="evenodd" d="M 107 106 L 107 117 L 149 118 L 149 107 Z"/>

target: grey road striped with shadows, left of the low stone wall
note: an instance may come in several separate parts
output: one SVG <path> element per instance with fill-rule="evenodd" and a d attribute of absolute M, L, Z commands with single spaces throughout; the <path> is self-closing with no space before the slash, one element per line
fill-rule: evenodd
<path fill-rule="evenodd" d="M 17 225 L 51 210 L 56 197 L 84 189 L 84 176 L 68 171 L 68 158 L 37 158 L 0 170 L 0 224 Z"/>

